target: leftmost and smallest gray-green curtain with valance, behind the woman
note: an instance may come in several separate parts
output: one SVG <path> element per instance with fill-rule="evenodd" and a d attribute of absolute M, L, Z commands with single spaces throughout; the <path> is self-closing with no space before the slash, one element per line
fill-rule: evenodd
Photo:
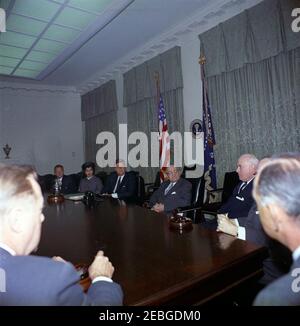
<path fill-rule="evenodd" d="M 96 162 L 100 145 L 97 135 L 103 131 L 112 132 L 118 139 L 118 103 L 116 83 L 111 80 L 81 97 L 81 119 L 85 122 L 85 159 Z M 107 167 L 104 171 L 110 172 Z"/>

